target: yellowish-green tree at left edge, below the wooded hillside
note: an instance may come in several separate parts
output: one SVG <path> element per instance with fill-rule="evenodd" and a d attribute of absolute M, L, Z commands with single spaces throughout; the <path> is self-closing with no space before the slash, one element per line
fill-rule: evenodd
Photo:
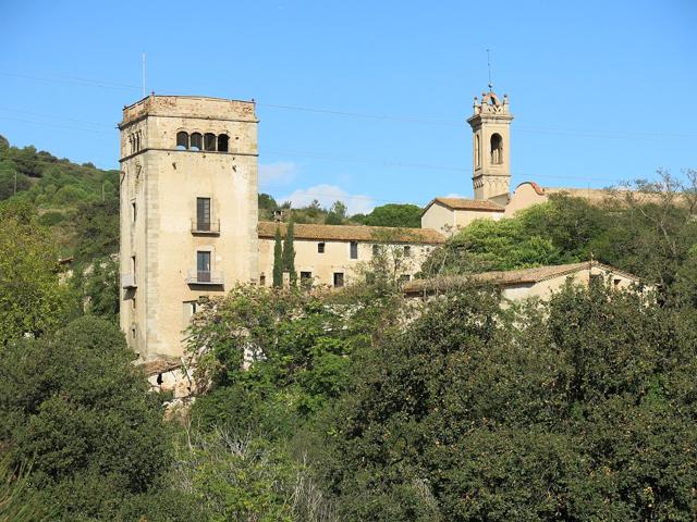
<path fill-rule="evenodd" d="M 0 347 L 54 328 L 74 309 L 59 283 L 58 249 L 27 203 L 0 204 Z"/>

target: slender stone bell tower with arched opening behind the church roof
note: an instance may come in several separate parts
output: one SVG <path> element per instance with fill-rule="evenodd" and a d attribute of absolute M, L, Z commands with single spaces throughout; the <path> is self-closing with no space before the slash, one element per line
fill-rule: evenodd
<path fill-rule="evenodd" d="M 473 176 L 475 199 L 488 199 L 500 204 L 509 201 L 511 185 L 511 122 L 509 98 L 503 101 L 491 90 L 475 96 L 472 126 Z"/>

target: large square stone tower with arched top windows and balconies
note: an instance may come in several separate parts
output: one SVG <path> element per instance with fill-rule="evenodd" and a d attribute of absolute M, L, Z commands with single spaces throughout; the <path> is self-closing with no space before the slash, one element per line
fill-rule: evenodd
<path fill-rule="evenodd" d="M 254 102 L 148 96 L 123 109 L 121 327 L 178 358 L 203 296 L 258 278 Z"/>

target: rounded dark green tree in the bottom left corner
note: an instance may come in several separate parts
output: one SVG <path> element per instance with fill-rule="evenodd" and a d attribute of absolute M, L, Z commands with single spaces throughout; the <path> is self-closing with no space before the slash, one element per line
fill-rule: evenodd
<path fill-rule="evenodd" d="M 0 358 L 0 440 L 33 461 L 32 484 L 54 520 L 114 520 L 157 483 L 168 431 L 123 334 L 95 318 L 8 345 Z"/>

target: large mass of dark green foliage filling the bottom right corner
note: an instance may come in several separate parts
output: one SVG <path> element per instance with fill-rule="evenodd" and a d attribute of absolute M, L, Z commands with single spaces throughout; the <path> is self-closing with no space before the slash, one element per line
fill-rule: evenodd
<path fill-rule="evenodd" d="M 354 365 L 331 490 L 350 520 L 692 520 L 694 328 L 600 286 L 433 301 Z"/>

